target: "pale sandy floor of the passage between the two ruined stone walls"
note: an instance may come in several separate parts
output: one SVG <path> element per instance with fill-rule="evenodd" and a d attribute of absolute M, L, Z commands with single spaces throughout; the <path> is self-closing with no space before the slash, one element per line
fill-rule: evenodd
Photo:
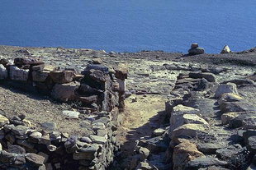
<path fill-rule="evenodd" d="M 133 102 L 133 99 L 137 99 Z M 151 136 L 156 127 L 163 126 L 164 95 L 132 95 L 126 99 L 126 118 L 121 126 L 120 140 L 124 151 L 132 152 L 135 140 Z"/>

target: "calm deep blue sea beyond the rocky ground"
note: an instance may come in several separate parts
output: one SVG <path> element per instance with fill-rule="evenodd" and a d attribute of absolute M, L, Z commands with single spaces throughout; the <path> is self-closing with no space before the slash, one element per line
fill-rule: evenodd
<path fill-rule="evenodd" d="M 1 0 L 0 44 L 206 53 L 256 46 L 255 0 Z"/>

